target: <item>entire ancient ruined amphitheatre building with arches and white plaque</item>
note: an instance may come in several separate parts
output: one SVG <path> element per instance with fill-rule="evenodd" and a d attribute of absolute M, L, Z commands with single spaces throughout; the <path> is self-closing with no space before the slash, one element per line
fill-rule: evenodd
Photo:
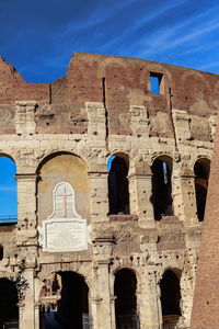
<path fill-rule="evenodd" d="M 49 300 L 62 328 L 188 328 L 218 106 L 193 69 L 74 54 L 34 84 L 1 58 L 0 318 L 43 328 Z"/>

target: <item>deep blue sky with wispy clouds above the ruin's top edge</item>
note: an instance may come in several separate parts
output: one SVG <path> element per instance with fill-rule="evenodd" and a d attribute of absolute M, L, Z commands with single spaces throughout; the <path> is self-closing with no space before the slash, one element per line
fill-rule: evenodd
<path fill-rule="evenodd" d="M 27 82 L 64 76 L 73 52 L 219 73 L 219 2 L 0 0 L 0 54 Z"/>

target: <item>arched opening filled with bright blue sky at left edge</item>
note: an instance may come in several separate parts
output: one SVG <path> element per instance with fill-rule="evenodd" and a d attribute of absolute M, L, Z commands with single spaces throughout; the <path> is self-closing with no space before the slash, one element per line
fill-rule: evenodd
<path fill-rule="evenodd" d="M 18 222 L 16 164 L 9 157 L 0 156 L 0 225 Z"/>

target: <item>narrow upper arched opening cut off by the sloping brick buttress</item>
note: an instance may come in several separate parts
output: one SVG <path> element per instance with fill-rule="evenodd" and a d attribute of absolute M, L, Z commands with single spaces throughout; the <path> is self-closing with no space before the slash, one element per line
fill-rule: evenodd
<path fill-rule="evenodd" d="M 194 167 L 195 172 L 195 194 L 198 220 L 203 222 L 205 216 L 206 197 L 208 191 L 208 178 L 210 173 L 210 160 L 198 159 Z"/>

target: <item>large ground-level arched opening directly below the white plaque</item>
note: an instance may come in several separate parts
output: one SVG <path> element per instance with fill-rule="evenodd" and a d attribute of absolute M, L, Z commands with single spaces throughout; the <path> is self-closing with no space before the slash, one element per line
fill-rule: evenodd
<path fill-rule="evenodd" d="M 54 273 L 44 280 L 39 300 L 42 329 L 90 328 L 89 287 L 83 276 L 70 271 Z"/>

